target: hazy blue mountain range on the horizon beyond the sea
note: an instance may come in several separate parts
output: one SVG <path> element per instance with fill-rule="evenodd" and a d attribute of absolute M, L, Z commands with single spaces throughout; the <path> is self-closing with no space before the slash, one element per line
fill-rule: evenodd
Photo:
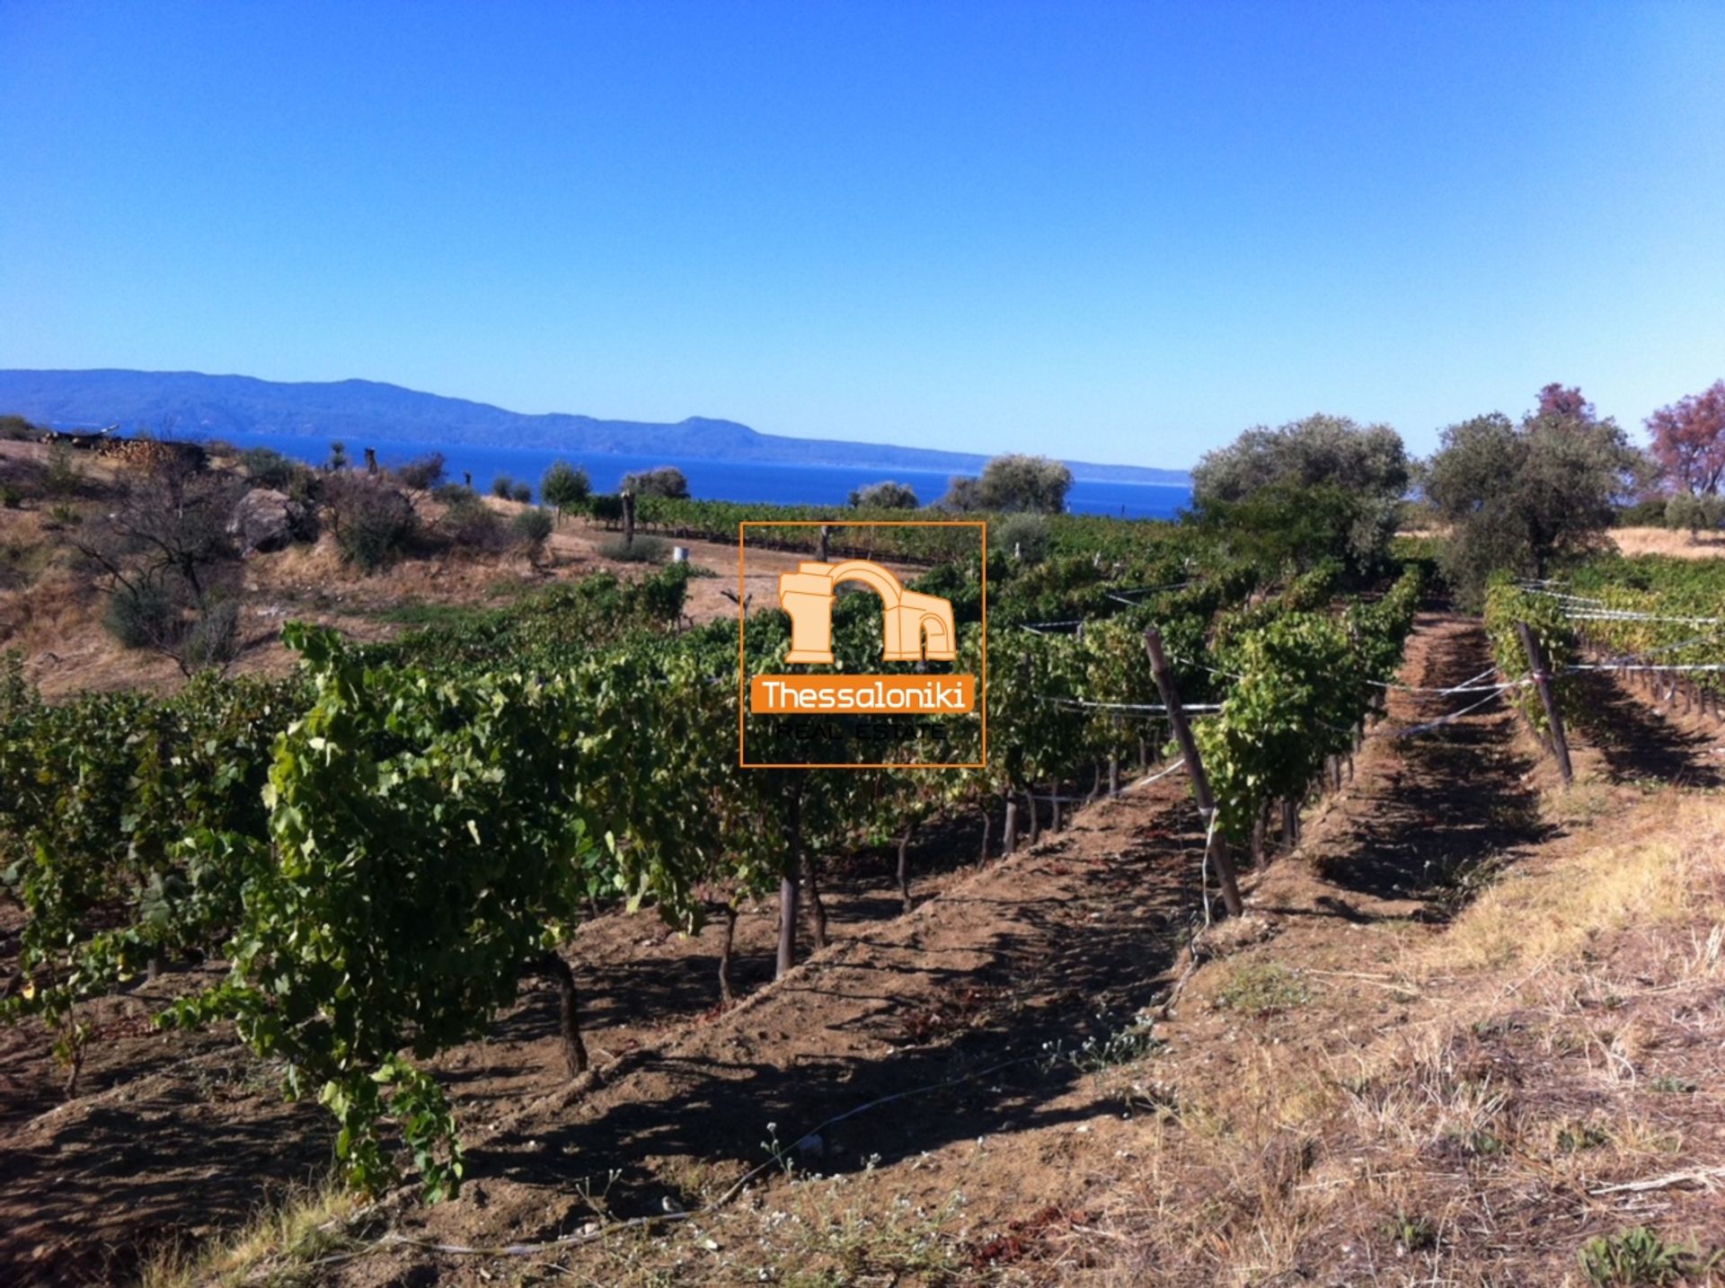
<path fill-rule="evenodd" d="M 869 466 L 975 474 L 975 452 L 762 435 L 735 421 L 692 416 L 676 424 L 600 421 L 552 412 L 528 416 L 466 398 L 404 390 L 369 379 L 281 383 L 195 371 L 24 371 L 0 369 L 0 414 L 36 424 L 119 424 L 162 438 L 223 438 L 236 433 L 340 438 L 348 447 L 445 443 L 530 447 L 552 452 L 666 455 L 787 466 Z M 1113 483 L 1185 485 L 1180 469 L 1066 462 L 1075 478 Z"/>

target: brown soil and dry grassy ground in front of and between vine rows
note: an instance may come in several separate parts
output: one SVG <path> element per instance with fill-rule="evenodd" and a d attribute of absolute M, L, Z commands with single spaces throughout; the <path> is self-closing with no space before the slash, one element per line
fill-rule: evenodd
<path fill-rule="evenodd" d="M 1402 674 L 1440 686 L 1487 660 L 1475 621 L 1427 614 Z M 1197 935 L 1192 971 L 1201 836 L 1178 776 L 980 871 L 975 835 L 933 840 L 909 916 L 885 855 L 859 857 L 830 883 L 833 945 L 778 985 L 771 909 L 749 912 L 730 1010 L 716 929 L 600 917 L 571 952 L 599 1074 L 569 1083 L 554 1002 L 526 995 L 438 1062 L 471 1147 L 462 1198 L 397 1195 L 312 1264 L 254 1269 L 1558 1285 L 1584 1281 L 1585 1240 L 1634 1226 L 1716 1245 L 1722 729 L 1597 683 L 1568 791 L 1496 705 L 1392 736 L 1465 705 L 1394 691 L 1299 850 L 1249 876 L 1247 916 Z M 14 1281 L 119 1278 L 328 1164 L 319 1110 L 283 1107 L 223 1035 L 116 1028 L 59 1107 L 43 1045 L 0 1047 Z"/>

